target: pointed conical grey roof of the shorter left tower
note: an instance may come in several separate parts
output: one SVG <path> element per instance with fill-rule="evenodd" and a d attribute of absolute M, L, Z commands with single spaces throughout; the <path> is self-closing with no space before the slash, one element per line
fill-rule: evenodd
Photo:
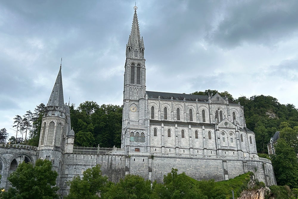
<path fill-rule="evenodd" d="M 48 106 L 63 107 L 64 98 L 63 98 L 63 86 L 62 86 L 62 75 L 61 75 L 61 66 L 58 72 L 51 96 L 49 98 Z"/>

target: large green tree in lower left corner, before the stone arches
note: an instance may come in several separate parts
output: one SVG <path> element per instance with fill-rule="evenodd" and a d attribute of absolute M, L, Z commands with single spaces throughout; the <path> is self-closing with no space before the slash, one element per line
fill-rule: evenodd
<path fill-rule="evenodd" d="M 58 173 L 52 171 L 51 161 L 38 159 L 35 166 L 23 162 L 8 177 L 13 187 L 4 192 L 3 198 L 58 198 L 57 176 Z"/>

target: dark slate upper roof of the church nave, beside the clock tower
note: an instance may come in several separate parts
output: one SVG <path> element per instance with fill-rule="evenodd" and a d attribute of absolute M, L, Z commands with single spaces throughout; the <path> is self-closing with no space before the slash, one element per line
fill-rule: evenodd
<path fill-rule="evenodd" d="M 208 102 L 207 95 L 191 95 L 191 94 L 182 94 L 182 93 L 171 93 L 171 92 L 156 92 L 156 91 L 146 91 L 148 98 L 153 99 L 171 99 L 173 100 L 185 100 L 186 101 L 199 101 L 199 102 Z M 237 104 L 232 100 L 229 100 L 229 104 Z"/>

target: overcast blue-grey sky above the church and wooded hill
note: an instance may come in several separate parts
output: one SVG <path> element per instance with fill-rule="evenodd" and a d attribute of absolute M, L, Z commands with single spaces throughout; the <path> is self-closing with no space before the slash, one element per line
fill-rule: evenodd
<path fill-rule="evenodd" d="M 122 105 L 134 0 L 0 1 L 0 129 L 49 100 Z M 137 1 L 150 91 L 271 95 L 298 107 L 298 1 Z"/>

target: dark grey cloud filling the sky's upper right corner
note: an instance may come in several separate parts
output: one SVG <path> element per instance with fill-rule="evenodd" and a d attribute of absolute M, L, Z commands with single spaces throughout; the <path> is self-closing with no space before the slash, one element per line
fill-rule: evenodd
<path fill-rule="evenodd" d="M 271 46 L 297 33 L 297 10 L 297 1 L 230 1 L 205 38 L 222 48 Z"/>

